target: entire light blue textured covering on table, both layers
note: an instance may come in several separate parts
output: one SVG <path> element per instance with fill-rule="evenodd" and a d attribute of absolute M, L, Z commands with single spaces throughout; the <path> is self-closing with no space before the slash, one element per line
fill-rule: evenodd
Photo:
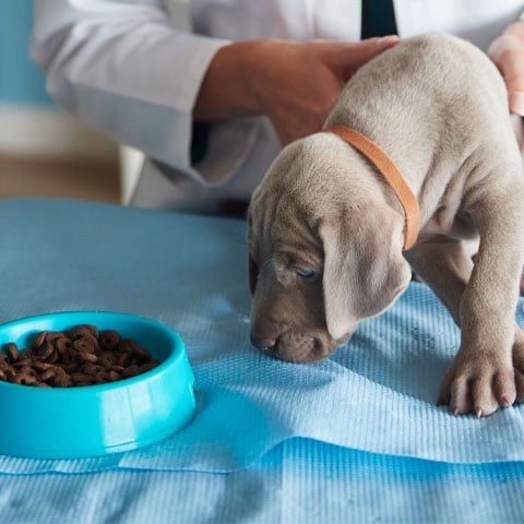
<path fill-rule="evenodd" d="M 165 322 L 199 402 L 141 450 L 0 455 L 0 522 L 524 522 L 524 406 L 477 420 L 434 405 L 460 334 L 425 284 L 332 358 L 294 365 L 250 345 L 243 221 L 4 200 L 0 239 L 0 322 L 93 309 Z"/>

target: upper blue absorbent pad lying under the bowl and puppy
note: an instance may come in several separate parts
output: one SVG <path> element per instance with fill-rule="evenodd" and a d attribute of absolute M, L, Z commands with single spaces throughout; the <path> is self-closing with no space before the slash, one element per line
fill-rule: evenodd
<path fill-rule="evenodd" d="M 194 420 L 157 444 L 86 460 L 3 455 L 0 473 L 230 473 L 297 438 L 391 460 L 524 460 L 524 406 L 480 420 L 436 406 L 460 333 L 425 284 L 330 359 L 296 365 L 249 342 L 243 221 L 12 200 L 0 203 L 0 321 L 97 309 L 165 322 L 186 342 L 199 402 Z"/>

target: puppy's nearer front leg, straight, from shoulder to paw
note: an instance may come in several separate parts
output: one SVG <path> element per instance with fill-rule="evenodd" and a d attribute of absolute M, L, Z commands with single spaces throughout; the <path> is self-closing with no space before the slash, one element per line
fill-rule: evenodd
<path fill-rule="evenodd" d="M 514 194 L 476 207 L 480 246 L 461 298 L 461 347 L 440 392 L 455 414 L 487 416 L 515 401 L 512 346 L 524 247 Z"/>

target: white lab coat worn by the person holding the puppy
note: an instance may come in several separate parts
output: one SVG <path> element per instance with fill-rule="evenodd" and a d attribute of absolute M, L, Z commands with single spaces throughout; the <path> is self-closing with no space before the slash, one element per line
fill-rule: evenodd
<path fill-rule="evenodd" d="M 175 0 L 36 0 L 32 55 L 56 100 L 150 158 L 133 203 L 213 211 L 249 200 L 279 151 L 265 118 L 212 126 L 191 166 L 191 111 L 216 50 L 263 37 L 356 40 L 361 0 L 193 0 L 193 34 Z M 520 0 L 394 0 L 401 37 L 449 32 L 483 49 L 524 11 Z"/>

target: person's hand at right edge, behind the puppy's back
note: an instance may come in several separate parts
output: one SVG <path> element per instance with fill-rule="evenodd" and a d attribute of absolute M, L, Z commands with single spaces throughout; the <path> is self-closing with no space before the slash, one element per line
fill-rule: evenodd
<path fill-rule="evenodd" d="M 489 46 L 488 55 L 508 87 L 511 112 L 524 116 L 524 22 L 514 22 Z"/>

